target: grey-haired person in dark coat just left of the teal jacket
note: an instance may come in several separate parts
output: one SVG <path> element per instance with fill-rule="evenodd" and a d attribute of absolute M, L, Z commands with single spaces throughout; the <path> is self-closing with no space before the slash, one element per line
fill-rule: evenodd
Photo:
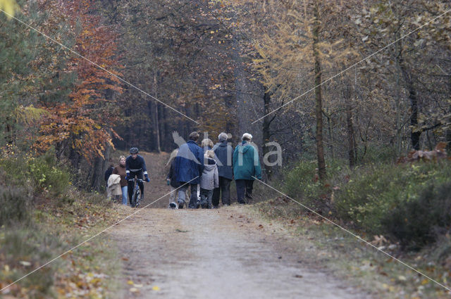
<path fill-rule="evenodd" d="M 222 132 L 219 134 L 218 139 L 219 142 L 213 148 L 219 174 L 219 187 L 213 191 L 212 201 L 214 208 L 218 208 L 221 193 L 223 205 L 230 205 L 230 182 L 233 180 L 233 148 L 227 144 L 228 136 L 226 133 Z"/>

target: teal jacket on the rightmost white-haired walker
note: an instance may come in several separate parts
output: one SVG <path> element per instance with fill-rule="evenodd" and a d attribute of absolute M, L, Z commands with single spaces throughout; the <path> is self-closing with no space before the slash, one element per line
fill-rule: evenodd
<path fill-rule="evenodd" d="M 246 141 L 242 141 L 233 152 L 233 176 L 235 180 L 261 179 L 259 153 Z"/>

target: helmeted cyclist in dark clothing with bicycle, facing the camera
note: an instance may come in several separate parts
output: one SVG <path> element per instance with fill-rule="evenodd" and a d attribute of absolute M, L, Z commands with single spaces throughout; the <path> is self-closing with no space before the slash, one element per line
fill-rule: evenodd
<path fill-rule="evenodd" d="M 133 179 L 137 177 L 142 179 L 142 174 L 146 178 L 146 182 L 150 182 L 149 175 L 147 174 L 146 163 L 141 155 L 138 155 L 138 148 L 130 148 L 130 155 L 125 159 L 125 179 L 128 182 L 128 200 L 130 201 L 130 206 L 134 208 L 132 203 L 133 189 L 135 188 L 135 182 Z M 142 181 L 137 181 L 141 190 L 141 201 L 144 200 L 144 184 Z"/>

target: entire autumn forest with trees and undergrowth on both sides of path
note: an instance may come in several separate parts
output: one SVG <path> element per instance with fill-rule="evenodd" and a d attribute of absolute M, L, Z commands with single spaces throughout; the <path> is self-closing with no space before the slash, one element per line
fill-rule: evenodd
<path fill-rule="evenodd" d="M 101 193 L 120 153 L 170 152 L 174 131 L 197 130 L 214 142 L 230 133 L 233 145 L 249 132 L 261 158 L 280 144 L 283 165 L 263 165 L 264 180 L 310 210 L 256 183 L 264 217 L 352 255 L 345 267 L 371 260 L 365 269 L 390 278 L 389 293 L 449 297 L 393 260 L 326 241 L 349 236 L 321 218 L 451 279 L 449 1 L 0 0 L 0 9 L 0 287 L 130 212 Z M 397 163 L 413 150 L 426 158 Z M 118 271 L 103 248 L 80 248 L 11 292 L 114 292 L 87 273 Z"/>

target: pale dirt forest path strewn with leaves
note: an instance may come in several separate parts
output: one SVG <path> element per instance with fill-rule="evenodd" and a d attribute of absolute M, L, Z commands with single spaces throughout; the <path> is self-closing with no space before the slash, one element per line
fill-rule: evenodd
<path fill-rule="evenodd" d="M 166 163 L 154 158 L 151 180 L 159 171 L 151 167 Z M 151 186 L 147 203 L 168 192 L 163 179 Z M 109 233 L 123 262 L 118 298 L 369 298 L 307 267 L 245 207 L 168 210 L 161 202 Z"/>

